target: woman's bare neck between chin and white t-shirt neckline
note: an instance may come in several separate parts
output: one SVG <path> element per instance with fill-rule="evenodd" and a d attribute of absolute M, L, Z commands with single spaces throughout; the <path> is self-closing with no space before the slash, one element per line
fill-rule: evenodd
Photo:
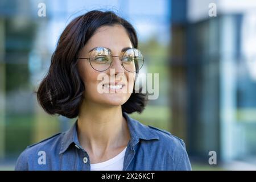
<path fill-rule="evenodd" d="M 127 145 L 129 129 L 121 106 L 83 102 L 77 122 L 79 142 L 86 151 L 103 155 Z"/>

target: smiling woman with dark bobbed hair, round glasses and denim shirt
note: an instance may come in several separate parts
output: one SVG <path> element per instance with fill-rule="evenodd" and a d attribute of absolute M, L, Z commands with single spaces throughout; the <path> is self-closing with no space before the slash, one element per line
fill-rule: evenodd
<path fill-rule="evenodd" d="M 67 132 L 28 146 L 16 170 L 191 169 L 183 140 L 128 115 L 146 105 L 146 95 L 134 93 L 144 62 L 137 47 L 133 26 L 111 11 L 68 24 L 37 94 L 47 113 L 78 119 Z"/>

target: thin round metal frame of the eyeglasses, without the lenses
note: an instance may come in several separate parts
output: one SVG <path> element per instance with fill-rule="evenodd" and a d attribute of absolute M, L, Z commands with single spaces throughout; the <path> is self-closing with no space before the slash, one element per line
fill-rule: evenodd
<path fill-rule="evenodd" d="M 106 48 L 106 47 L 96 47 L 96 48 L 94 48 L 94 49 L 97 49 L 97 48 L 105 48 L 105 49 L 108 49 L 108 48 Z M 92 55 L 92 52 L 94 51 L 94 49 L 92 49 L 92 51 L 90 51 L 90 56 Z M 136 49 L 136 50 L 138 50 L 139 52 L 141 52 L 141 51 L 140 51 L 139 49 L 137 49 L 137 48 L 129 48 L 129 49 Z M 126 51 L 128 51 L 129 49 L 126 49 L 125 51 L 123 51 L 123 55 L 125 55 Z M 128 70 L 123 66 L 123 59 L 122 59 L 123 55 L 122 55 L 122 56 L 113 56 L 113 55 L 111 54 L 110 49 L 108 49 L 108 51 L 110 52 L 110 56 L 111 56 L 111 57 L 119 57 L 119 58 L 121 58 L 121 65 L 122 65 L 122 67 L 123 67 L 127 72 L 135 73 L 135 72 L 138 72 L 138 71 L 143 67 L 143 64 L 144 64 L 144 61 L 145 61 L 143 55 L 142 55 L 142 56 L 143 56 L 143 59 L 140 59 L 140 60 L 143 61 L 143 62 L 142 62 L 142 65 L 141 65 L 141 68 L 139 68 L 137 71 L 131 72 L 131 71 L 128 71 Z M 77 57 L 77 59 L 89 60 L 89 62 L 90 62 L 90 56 L 89 56 L 89 57 Z M 111 61 L 109 68 L 111 68 L 112 65 L 113 65 L 113 60 Z M 93 68 L 92 63 L 90 63 L 90 66 Z M 95 71 L 98 71 L 98 72 L 105 72 L 105 71 L 108 70 L 109 68 L 107 68 L 107 69 L 105 69 L 105 70 L 103 70 L 103 71 L 98 71 L 98 70 L 95 69 L 95 68 L 93 68 L 93 69 L 94 69 Z"/>

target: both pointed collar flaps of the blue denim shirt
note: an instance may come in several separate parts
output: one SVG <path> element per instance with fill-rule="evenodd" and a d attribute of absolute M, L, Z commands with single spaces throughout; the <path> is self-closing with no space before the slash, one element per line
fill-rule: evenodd
<path fill-rule="evenodd" d="M 152 133 L 152 130 L 150 130 L 148 126 L 145 126 L 142 123 L 138 122 L 137 120 L 131 118 L 125 112 L 123 112 L 123 117 L 125 117 L 127 121 L 127 125 L 129 127 L 132 146 L 135 146 L 135 144 L 139 142 L 139 139 L 143 139 L 143 140 L 158 139 L 159 140 L 158 135 L 156 135 L 155 133 Z M 69 129 L 64 133 L 63 138 L 61 140 L 61 147 L 60 147 L 59 154 L 62 154 L 63 152 L 65 152 L 72 143 L 80 147 L 80 143 L 77 137 L 77 120 L 75 124 L 71 127 L 71 129 Z"/>

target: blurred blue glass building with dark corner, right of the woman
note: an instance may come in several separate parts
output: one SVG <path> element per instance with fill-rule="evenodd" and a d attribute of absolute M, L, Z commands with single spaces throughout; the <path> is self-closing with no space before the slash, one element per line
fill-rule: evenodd
<path fill-rule="evenodd" d="M 218 161 L 256 164 L 256 3 L 174 0 L 171 7 L 173 130 L 204 163 L 216 151 Z"/>

